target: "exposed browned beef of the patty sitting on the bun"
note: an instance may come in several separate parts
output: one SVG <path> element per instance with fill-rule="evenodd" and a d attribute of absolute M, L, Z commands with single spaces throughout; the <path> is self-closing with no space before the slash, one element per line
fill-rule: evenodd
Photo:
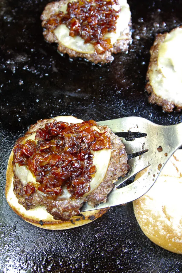
<path fill-rule="evenodd" d="M 38 128 L 44 128 L 45 124 L 52 121 L 52 119 L 45 119 L 38 121 L 35 125 L 32 125 L 24 137 L 21 137 L 16 141 L 16 145 L 22 143 L 22 141 L 37 131 Z M 107 132 L 106 136 L 110 137 L 112 148 L 111 158 L 109 166 L 104 180 L 94 191 L 86 196 L 84 200 L 81 198 L 69 199 L 69 200 L 52 200 L 44 197 L 37 191 L 33 192 L 29 196 L 25 193 L 25 187 L 20 179 L 17 178 L 14 173 L 14 194 L 18 199 L 18 203 L 23 205 L 26 210 L 36 208 L 43 205 L 50 215 L 53 215 L 55 220 L 67 221 L 71 217 L 80 213 L 80 207 L 85 201 L 88 201 L 90 205 L 95 206 L 100 202 L 106 202 L 107 194 L 113 188 L 113 182 L 119 177 L 125 176 L 129 165 L 127 164 L 127 154 L 124 150 L 124 145 L 119 137 L 117 137 L 107 126 L 97 126 L 101 133 Z M 13 161 L 15 170 L 15 162 Z M 15 171 L 14 171 L 15 172 Z M 81 200 L 81 202 L 80 202 Z"/>

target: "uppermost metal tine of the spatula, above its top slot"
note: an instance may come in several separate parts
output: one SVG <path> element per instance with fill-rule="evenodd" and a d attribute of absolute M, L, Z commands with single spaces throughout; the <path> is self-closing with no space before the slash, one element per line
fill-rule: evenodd
<path fill-rule="evenodd" d="M 148 123 L 152 122 L 149 122 L 142 117 L 123 117 L 97 122 L 99 125 L 108 125 L 114 133 L 127 132 L 128 130 L 132 132 L 146 133 L 146 125 Z"/>

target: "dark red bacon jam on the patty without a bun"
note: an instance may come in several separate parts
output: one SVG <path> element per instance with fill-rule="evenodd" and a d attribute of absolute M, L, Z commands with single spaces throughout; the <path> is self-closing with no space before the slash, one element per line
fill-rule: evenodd
<path fill-rule="evenodd" d="M 78 0 L 68 3 L 67 13 L 59 11 L 50 16 L 45 28 L 53 31 L 58 25 L 65 24 L 70 29 L 70 36 L 80 36 L 85 43 L 94 45 L 97 53 L 104 53 L 112 48 L 110 38 L 105 39 L 108 32 L 116 31 L 116 20 L 119 10 L 118 0 Z"/>

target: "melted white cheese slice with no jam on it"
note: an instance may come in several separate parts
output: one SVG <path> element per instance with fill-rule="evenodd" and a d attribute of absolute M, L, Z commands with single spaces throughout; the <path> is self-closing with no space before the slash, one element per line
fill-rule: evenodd
<path fill-rule="evenodd" d="M 159 46 L 158 67 L 153 65 L 151 86 L 157 96 L 182 106 L 182 28 L 167 33 Z"/>

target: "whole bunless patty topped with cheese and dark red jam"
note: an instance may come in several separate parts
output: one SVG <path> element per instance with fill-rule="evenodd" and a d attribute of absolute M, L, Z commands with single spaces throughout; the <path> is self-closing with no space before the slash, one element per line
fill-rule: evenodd
<path fill-rule="evenodd" d="M 127 0 L 60 0 L 49 3 L 42 15 L 44 38 L 58 43 L 60 53 L 109 63 L 112 53 L 127 52 L 131 12 Z"/>

